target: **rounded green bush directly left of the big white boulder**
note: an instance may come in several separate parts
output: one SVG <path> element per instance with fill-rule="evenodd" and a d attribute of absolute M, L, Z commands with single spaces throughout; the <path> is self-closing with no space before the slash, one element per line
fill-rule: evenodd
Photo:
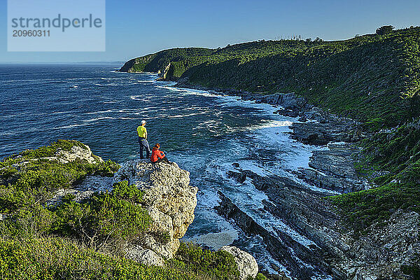
<path fill-rule="evenodd" d="M 77 236 L 91 248 L 102 248 L 112 239 L 134 239 L 151 223 L 147 211 L 139 204 L 141 191 L 127 181 L 116 183 L 111 193 L 94 193 L 83 202 L 72 195 L 64 197 L 54 209 L 57 217 L 52 232 Z"/>

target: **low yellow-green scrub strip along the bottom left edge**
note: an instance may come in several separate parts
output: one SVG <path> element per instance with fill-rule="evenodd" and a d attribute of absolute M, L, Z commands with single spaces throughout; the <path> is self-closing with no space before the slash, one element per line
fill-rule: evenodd
<path fill-rule="evenodd" d="M 104 255 L 60 238 L 0 238 L 1 279 L 187 280 L 197 279 L 176 269 L 141 265 Z"/>

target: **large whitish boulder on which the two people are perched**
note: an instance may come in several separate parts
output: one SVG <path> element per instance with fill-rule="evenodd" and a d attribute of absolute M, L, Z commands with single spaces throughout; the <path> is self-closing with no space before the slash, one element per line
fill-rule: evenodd
<path fill-rule="evenodd" d="M 144 191 L 144 207 L 153 220 L 148 232 L 134 242 L 136 246 L 127 249 L 127 256 L 158 263 L 153 253 L 146 253 L 149 250 L 159 257 L 173 258 L 179 239 L 193 223 L 197 206 L 197 188 L 190 186 L 190 173 L 175 162 L 152 164 L 149 160 L 130 160 L 114 174 L 113 183 L 119 181 L 128 181 Z"/>

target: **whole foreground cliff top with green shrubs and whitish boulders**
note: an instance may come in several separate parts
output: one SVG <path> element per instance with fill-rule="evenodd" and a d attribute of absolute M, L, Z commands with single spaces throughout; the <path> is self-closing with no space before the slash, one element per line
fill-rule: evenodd
<path fill-rule="evenodd" d="M 50 279 L 253 279 L 257 262 L 239 248 L 179 249 L 197 205 L 189 175 L 174 162 L 104 162 L 67 140 L 2 160 L 1 275 L 38 279 L 32 276 L 43 270 Z"/>

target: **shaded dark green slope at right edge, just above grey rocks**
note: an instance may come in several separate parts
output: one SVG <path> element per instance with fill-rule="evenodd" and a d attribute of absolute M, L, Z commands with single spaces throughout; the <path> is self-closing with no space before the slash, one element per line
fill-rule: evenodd
<path fill-rule="evenodd" d="M 377 188 L 330 197 L 353 228 L 363 232 L 398 209 L 420 214 L 420 119 L 381 130 L 360 145 L 358 172 Z"/>

